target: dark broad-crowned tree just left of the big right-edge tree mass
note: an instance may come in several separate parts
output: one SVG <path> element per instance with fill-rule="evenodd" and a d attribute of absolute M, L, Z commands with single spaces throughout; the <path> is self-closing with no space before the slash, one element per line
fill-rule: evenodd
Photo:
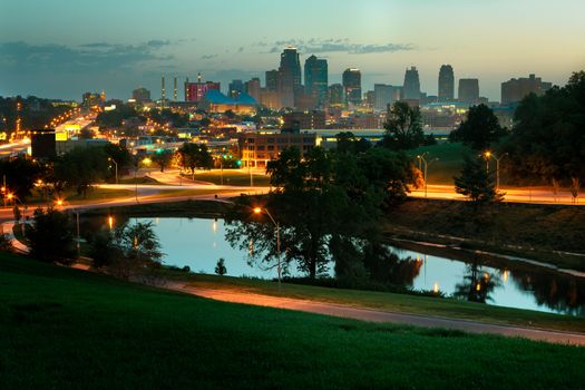
<path fill-rule="evenodd" d="M 479 105 L 469 108 L 467 119 L 451 131 L 449 139 L 461 142 L 475 150 L 487 150 L 506 134 L 494 111 L 486 105 Z"/>

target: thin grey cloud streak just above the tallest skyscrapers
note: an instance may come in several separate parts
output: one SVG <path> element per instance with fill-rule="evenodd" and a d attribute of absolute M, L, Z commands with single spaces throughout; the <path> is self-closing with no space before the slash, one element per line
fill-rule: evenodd
<path fill-rule="evenodd" d="M 256 46 L 261 45 L 256 43 Z M 272 47 L 269 51 L 270 53 L 281 52 L 282 48 L 286 46 L 296 47 L 301 52 L 345 52 L 349 55 L 369 55 L 381 52 L 408 51 L 416 49 L 416 47 L 412 43 L 362 45 L 352 43 L 348 38 L 311 38 L 309 40 L 289 39 L 275 41 L 270 46 Z"/>

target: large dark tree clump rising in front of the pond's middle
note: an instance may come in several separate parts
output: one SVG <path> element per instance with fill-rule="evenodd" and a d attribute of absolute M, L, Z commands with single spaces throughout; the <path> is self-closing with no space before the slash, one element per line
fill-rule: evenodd
<path fill-rule="evenodd" d="M 289 263 L 295 260 L 300 271 L 316 277 L 324 271 L 332 251 L 339 254 L 340 275 L 363 277 L 360 270 L 363 256 L 347 257 L 337 248 L 358 243 L 350 237 L 380 240 L 380 217 L 384 205 L 404 196 L 411 182 L 411 162 L 402 154 L 384 148 L 371 148 L 362 154 L 332 153 L 311 149 L 304 157 L 296 148 L 283 150 L 280 158 L 269 163 L 267 173 L 274 189 L 266 208 L 280 222 L 281 247 Z M 250 213 L 251 198 L 240 201 L 240 212 Z M 228 222 L 227 241 L 241 248 L 253 242 L 252 260 L 273 263 L 276 254 L 274 226 L 267 216 L 250 217 L 237 214 Z M 333 250 L 331 241 L 339 243 Z M 347 252 L 347 251 L 345 251 Z M 344 263 L 345 262 L 345 263 Z"/>

